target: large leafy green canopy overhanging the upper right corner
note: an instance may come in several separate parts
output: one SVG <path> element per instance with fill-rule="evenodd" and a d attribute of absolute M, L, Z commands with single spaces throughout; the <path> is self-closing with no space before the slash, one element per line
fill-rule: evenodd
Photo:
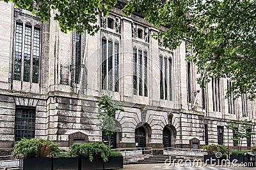
<path fill-rule="evenodd" d="M 236 97 L 249 94 L 256 97 L 256 1 L 250 0 L 131 0 L 124 12 L 140 11 L 155 27 L 167 27 L 155 38 L 163 37 L 163 45 L 177 48 L 182 39 L 190 41 L 198 78 L 205 87 L 211 78 L 231 78 Z"/>

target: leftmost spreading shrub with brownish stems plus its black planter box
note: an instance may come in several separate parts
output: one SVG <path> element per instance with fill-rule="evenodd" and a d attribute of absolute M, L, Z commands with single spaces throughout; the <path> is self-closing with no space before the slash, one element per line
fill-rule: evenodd
<path fill-rule="evenodd" d="M 52 141 L 22 138 L 14 146 L 13 157 L 23 156 L 20 159 L 21 170 L 49 170 L 52 169 L 52 159 L 47 156 L 58 152 L 58 145 Z"/>

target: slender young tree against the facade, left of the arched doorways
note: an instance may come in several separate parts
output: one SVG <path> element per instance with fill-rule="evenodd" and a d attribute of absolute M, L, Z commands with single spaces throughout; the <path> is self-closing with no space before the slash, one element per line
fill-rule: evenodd
<path fill-rule="evenodd" d="M 115 113 L 116 111 L 124 111 L 124 108 L 119 106 L 119 103 L 114 103 L 112 97 L 105 94 L 100 98 L 98 106 L 99 114 L 97 118 L 100 122 L 97 126 L 108 136 L 108 145 L 111 146 L 111 136 L 121 130 L 119 127 L 116 127 Z"/>

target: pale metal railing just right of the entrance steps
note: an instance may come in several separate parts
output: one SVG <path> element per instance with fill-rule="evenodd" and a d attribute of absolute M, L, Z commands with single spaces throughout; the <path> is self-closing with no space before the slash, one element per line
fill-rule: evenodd
<path fill-rule="evenodd" d="M 187 157 L 203 157 L 206 152 L 203 149 L 193 149 L 193 148 L 164 148 L 164 155 L 177 155 L 177 156 L 187 156 Z"/>

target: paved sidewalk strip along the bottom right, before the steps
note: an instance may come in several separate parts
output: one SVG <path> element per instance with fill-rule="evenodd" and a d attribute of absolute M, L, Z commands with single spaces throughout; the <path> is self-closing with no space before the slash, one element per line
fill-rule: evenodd
<path fill-rule="evenodd" d="M 160 170 L 160 169 L 177 169 L 177 170 L 256 170 L 256 167 L 235 167 L 235 166 L 195 166 L 195 167 L 188 167 L 188 166 L 166 166 L 164 164 L 130 164 L 124 165 L 124 170 Z"/>

